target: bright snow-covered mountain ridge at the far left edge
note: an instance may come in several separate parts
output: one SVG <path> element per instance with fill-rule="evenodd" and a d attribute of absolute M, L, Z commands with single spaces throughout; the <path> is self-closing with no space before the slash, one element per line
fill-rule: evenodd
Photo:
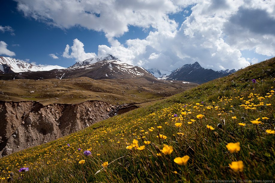
<path fill-rule="evenodd" d="M 17 60 L 10 57 L 0 57 L 0 71 L 2 74 L 13 72 L 35 72 L 35 71 L 50 71 L 52 69 L 64 69 L 58 65 L 48 65 L 41 67 L 33 65 L 22 60 Z"/>

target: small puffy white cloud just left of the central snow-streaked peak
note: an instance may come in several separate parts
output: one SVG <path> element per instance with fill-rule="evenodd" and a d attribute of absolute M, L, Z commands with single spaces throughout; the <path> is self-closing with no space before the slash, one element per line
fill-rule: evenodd
<path fill-rule="evenodd" d="M 70 52 L 71 50 L 71 52 Z M 70 53 L 69 53 L 70 52 Z M 70 47 L 66 45 L 66 48 L 63 52 L 63 57 L 65 58 L 74 58 L 76 61 L 84 61 L 89 58 L 95 57 L 95 53 L 85 53 L 84 44 L 78 39 L 73 40 L 73 45 Z"/>

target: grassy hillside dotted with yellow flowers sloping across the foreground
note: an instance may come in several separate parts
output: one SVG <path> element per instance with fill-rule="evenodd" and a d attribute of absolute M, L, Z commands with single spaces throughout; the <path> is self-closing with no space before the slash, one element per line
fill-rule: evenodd
<path fill-rule="evenodd" d="M 26 182 L 274 180 L 274 73 L 272 58 L 13 153 L 0 159 L 0 176 L 5 181 L 13 171 L 16 181 Z M 22 167 L 29 171 L 18 172 Z"/>

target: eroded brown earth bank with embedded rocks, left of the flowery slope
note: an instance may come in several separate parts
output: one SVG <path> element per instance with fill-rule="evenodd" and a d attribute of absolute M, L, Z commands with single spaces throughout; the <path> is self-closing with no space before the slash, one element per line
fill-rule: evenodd
<path fill-rule="evenodd" d="M 0 101 L 0 156 L 55 140 L 117 114 L 102 101 L 79 104 Z"/>

